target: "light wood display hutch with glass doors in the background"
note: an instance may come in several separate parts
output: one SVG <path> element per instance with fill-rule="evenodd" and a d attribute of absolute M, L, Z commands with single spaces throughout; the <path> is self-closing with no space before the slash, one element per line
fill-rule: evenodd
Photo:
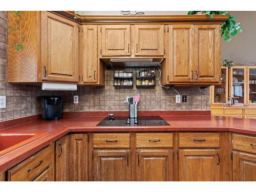
<path fill-rule="evenodd" d="M 223 106 L 235 97 L 250 106 Z M 221 67 L 221 84 L 210 87 L 211 114 L 256 118 L 256 66 Z"/>

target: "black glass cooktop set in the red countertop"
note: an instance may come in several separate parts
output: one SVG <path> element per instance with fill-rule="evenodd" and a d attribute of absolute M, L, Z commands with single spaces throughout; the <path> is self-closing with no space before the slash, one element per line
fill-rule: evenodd
<path fill-rule="evenodd" d="M 96 126 L 154 126 L 154 125 L 170 125 L 160 116 L 145 116 L 138 117 L 137 123 L 126 123 L 127 117 L 119 116 L 115 117 L 114 120 L 108 120 L 108 117 L 104 118 Z"/>

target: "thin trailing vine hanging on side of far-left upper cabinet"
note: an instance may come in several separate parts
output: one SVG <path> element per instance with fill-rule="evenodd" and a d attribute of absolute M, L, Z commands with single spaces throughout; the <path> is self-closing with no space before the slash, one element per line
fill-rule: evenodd
<path fill-rule="evenodd" d="M 13 47 L 17 52 L 22 50 L 24 47 L 22 45 L 22 23 L 23 23 L 23 15 L 20 11 L 10 11 L 10 14 L 13 14 L 14 17 L 20 17 L 19 23 L 16 22 L 15 18 L 13 18 L 15 26 L 8 26 L 8 29 L 11 30 L 12 33 L 16 33 L 18 37 L 18 42 L 16 42 Z"/>

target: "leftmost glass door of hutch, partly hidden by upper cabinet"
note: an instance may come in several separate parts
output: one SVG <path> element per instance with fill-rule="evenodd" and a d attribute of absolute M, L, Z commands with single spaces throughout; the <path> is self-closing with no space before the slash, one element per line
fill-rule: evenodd
<path fill-rule="evenodd" d="M 221 84 L 214 86 L 214 103 L 226 103 L 228 97 L 228 68 L 221 68 Z"/>

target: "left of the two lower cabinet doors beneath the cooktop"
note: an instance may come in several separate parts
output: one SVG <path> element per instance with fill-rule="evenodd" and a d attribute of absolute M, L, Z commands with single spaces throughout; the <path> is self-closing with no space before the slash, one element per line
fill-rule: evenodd
<path fill-rule="evenodd" d="M 131 181 L 130 150 L 93 152 L 94 181 Z"/>

